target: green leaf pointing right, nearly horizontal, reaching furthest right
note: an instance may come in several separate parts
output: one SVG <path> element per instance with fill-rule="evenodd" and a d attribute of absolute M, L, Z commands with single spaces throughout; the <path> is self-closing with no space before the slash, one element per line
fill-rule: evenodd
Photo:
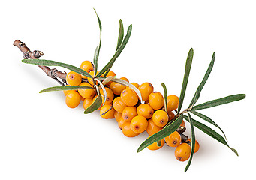
<path fill-rule="evenodd" d="M 203 104 L 198 104 L 197 106 L 192 107 L 192 110 L 203 110 L 209 107 L 216 107 L 221 104 L 228 104 L 233 101 L 239 101 L 244 98 L 245 98 L 245 94 L 229 95 L 224 98 L 219 98 L 212 101 L 207 101 L 206 103 L 203 103 Z"/>

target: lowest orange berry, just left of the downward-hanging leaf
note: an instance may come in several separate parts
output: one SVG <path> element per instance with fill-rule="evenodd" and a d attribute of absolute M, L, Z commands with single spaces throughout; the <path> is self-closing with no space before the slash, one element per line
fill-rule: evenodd
<path fill-rule="evenodd" d="M 182 143 L 176 147 L 174 154 L 177 160 L 185 161 L 188 160 L 188 158 L 190 157 L 190 151 L 190 145 L 188 145 L 187 143 Z"/>

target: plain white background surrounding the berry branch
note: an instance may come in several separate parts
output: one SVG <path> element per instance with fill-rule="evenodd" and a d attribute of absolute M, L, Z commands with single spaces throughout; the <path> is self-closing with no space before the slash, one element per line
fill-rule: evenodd
<path fill-rule="evenodd" d="M 12 43 L 20 39 L 30 49 L 43 51 L 44 59 L 80 66 L 83 60 L 92 60 L 98 45 L 93 7 L 103 27 L 99 68 L 116 49 L 119 19 L 125 31 L 133 25 L 131 39 L 113 65 L 117 77 L 150 82 L 159 92 L 163 92 L 164 82 L 169 95 L 179 95 L 185 59 L 193 47 L 184 108 L 216 52 L 215 66 L 198 103 L 246 94 L 245 100 L 201 111 L 224 130 L 239 157 L 196 129 L 200 150 L 184 172 L 187 162 L 175 159 L 174 148 L 165 145 L 159 151 L 137 153 L 145 133 L 129 139 L 122 135 L 116 120 L 104 120 L 98 112 L 84 115 L 81 106 L 66 107 L 62 92 L 38 93 L 57 83 L 35 65 L 23 64 L 23 54 Z M 0 18 L 0 179 L 215 179 L 253 175 L 253 1 L 10 0 L 1 2 Z M 190 136 L 190 130 L 186 134 Z"/>

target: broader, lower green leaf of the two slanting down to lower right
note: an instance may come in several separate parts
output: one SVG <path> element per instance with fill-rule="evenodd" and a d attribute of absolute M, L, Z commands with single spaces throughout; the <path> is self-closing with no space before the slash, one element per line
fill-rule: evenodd
<path fill-rule="evenodd" d="M 184 118 L 186 121 L 188 121 L 188 116 L 184 115 Z M 215 132 L 215 130 L 212 130 L 212 128 L 206 126 L 205 124 L 202 124 L 199 121 L 194 120 L 194 118 L 192 118 L 192 121 L 194 122 L 194 126 L 202 130 L 203 133 L 206 133 L 213 139 L 216 139 L 218 142 L 221 142 L 222 144 L 227 145 L 227 147 L 230 148 L 225 139 L 219 133 Z M 232 150 L 238 156 L 238 153 L 234 148 L 230 148 L 230 150 Z"/>

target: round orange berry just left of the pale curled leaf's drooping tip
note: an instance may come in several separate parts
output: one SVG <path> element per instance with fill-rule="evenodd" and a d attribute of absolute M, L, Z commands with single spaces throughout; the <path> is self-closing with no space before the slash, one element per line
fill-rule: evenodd
<path fill-rule="evenodd" d="M 121 99 L 127 106 L 130 106 L 130 107 L 135 106 L 138 102 L 138 97 L 136 92 L 134 92 L 131 89 L 124 89 L 121 92 Z"/>

